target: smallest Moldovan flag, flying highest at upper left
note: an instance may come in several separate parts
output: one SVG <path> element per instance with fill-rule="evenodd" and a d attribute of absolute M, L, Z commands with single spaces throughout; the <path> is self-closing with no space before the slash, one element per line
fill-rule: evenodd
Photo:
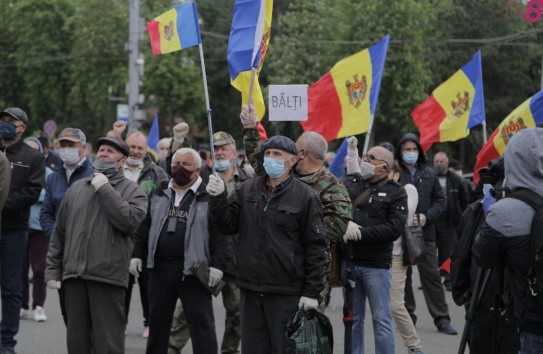
<path fill-rule="evenodd" d="M 147 24 L 153 54 L 175 52 L 202 43 L 194 2 L 181 4 Z"/>

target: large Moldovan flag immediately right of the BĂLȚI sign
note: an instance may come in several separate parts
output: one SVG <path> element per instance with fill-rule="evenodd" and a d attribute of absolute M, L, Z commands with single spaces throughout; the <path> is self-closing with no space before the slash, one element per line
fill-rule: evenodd
<path fill-rule="evenodd" d="M 327 141 L 368 131 L 375 114 L 390 35 L 377 44 L 338 61 L 308 89 L 305 131 Z"/>

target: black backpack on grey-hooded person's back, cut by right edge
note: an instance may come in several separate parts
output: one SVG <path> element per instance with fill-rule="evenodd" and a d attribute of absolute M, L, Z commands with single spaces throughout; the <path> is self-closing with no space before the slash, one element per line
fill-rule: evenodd
<path fill-rule="evenodd" d="M 527 274 L 526 302 L 536 308 L 543 319 L 543 197 L 525 188 L 515 190 L 508 197 L 522 200 L 535 210 L 531 227 L 531 261 Z"/>

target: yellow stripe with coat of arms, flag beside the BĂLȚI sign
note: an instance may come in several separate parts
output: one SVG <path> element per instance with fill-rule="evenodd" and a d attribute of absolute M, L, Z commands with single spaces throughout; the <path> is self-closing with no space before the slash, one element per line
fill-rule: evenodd
<path fill-rule="evenodd" d="M 372 65 L 369 50 L 364 49 L 338 61 L 330 74 L 334 79 L 343 118 L 338 137 L 365 133 L 371 117 Z"/>

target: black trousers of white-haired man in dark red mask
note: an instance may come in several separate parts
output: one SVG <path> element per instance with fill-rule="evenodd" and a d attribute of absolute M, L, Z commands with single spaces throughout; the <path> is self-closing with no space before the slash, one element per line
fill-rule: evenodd
<path fill-rule="evenodd" d="M 166 354 L 177 299 L 181 299 L 195 354 L 218 352 L 211 293 L 196 279 L 183 276 L 183 263 L 155 261 L 149 274 L 149 338 L 147 354 Z"/>

